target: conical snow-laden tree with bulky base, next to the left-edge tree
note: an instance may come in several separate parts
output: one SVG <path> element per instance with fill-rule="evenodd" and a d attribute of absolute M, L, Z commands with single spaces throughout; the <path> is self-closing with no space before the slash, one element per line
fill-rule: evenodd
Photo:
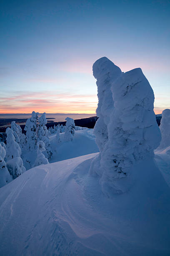
<path fill-rule="evenodd" d="M 9 127 L 7 133 L 7 146 L 6 146 L 6 161 L 7 169 L 12 175 L 13 179 L 17 178 L 20 174 L 26 171 L 21 159 L 21 149 L 19 144 L 15 141 L 13 130 Z"/>

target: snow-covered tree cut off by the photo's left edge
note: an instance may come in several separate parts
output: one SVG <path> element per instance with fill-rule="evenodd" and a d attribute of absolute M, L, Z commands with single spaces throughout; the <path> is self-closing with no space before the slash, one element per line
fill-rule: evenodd
<path fill-rule="evenodd" d="M 7 183 L 12 181 L 12 177 L 10 176 L 10 173 L 4 161 L 5 155 L 5 148 L 0 143 L 0 187 L 5 186 Z"/>

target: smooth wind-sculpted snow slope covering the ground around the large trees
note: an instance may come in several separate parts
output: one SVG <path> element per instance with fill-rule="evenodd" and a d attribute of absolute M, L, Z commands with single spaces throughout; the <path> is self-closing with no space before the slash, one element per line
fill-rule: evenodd
<path fill-rule="evenodd" d="M 170 255 L 170 187 L 155 162 L 135 164 L 130 190 L 107 198 L 89 176 L 92 151 L 92 130 L 76 131 L 57 162 L 0 189 L 0 255 Z M 167 152 L 156 155 L 159 166 Z"/>

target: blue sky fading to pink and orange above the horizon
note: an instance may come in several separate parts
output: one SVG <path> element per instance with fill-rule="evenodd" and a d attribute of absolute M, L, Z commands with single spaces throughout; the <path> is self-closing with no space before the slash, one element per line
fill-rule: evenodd
<path fill-rule="evenodd" d="M 0 113 L 95 113 L 102 56 L 170 108 L 170 0 L 0 2 Z"/>

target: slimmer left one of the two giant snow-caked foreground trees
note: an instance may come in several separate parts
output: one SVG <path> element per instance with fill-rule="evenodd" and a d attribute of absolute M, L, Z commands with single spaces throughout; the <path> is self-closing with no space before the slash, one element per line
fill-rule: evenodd
<path fill-rule="evenodd" d="M 97 97 L 98 105 L 96 114 L 98 120 L 94 127 L 94 134 L 96 143 L 100 150 L 99 156 L 92 162 L 91 172 L 93 174 L 100 174 L 100 159 L 103 148 L 108 140 L 107 125 L 110 122 L 110 114 L 114 108 L 112 99 L 111 85 L 117 77 L 122 73 L 120 68 L 117 67 L 112 61 L 103 57 L 95 61 L 92 67 L 93 76 L 97 79 Z"/>

